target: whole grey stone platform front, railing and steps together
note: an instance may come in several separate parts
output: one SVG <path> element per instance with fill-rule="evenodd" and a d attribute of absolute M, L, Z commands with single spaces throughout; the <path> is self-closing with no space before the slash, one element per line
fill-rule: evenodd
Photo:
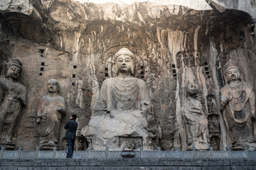
<path fill-rule="evenodd" d="M 135 151 L 124 159 L 121 151 L 76 151 L 65 159 L 65 151 L 0 151 L 0 170 L 95 170 L 95 169 L 193 169 L 256 170 L 254 151 Z"/>

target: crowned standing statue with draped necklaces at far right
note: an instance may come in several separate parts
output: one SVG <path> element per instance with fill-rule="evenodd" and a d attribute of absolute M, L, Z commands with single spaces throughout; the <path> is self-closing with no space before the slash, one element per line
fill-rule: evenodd
<path fill-rule="evenodd" d="M 220 89 L 220 110 L 232 149 L 255 149 L 255 91 L 252 84 L 242 81 L 238 62 L 229 60 L 224 69 L 226 85 Z"/>

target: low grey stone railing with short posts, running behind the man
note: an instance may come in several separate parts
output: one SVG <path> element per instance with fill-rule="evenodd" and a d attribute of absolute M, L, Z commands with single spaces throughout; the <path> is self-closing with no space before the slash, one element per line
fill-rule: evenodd
<path fill-rule="evenodd" d="M 122 151 L 112 151 L 106 148 L 105 150 L 75 151 L 73 158 L 75 159 L 119 159 Z M 256 159 L 256 151 L 248 151 L 246 148 L 242 151 L 231 151 L 227 148 L 226 151 L 213 151 L 210 147 L 208 151 L 179 151 L 177 148 L 174 151 L 158 150 L 140 150 L 134 151 L 137 159 Z M 54 148 L 50 151 L 43 151 L 36 148 L 33 151 L 23 151 L 22 147 L 18 150 L 6 150 L 1 147 L 0 159 L 64 159 L 65 151 Z"/>

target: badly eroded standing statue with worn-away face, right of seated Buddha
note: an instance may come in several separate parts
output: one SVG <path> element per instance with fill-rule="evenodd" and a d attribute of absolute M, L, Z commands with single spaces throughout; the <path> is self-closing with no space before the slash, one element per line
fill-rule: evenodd
<path fill-rule="evenodd" d="M 182 113 L 186 123 L 188 150 L 192 147 L 196 149 L 208 149 L 209 132 L 208 120 L 203 111 L 200 98 L 198 98 L 198 89 L 191 83 L 187 86 L 188 97 L 183 101 Z"/>

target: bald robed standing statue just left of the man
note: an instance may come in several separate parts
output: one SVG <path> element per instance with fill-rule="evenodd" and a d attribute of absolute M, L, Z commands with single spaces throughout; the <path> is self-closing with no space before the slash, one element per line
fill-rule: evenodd
<path fill-rule="evenodd" d="M 49 94 L 43 96 L 39 101 L 36 116 L 41 149 L 58 147 L 60 120 L 65 113 L 64 98 L 58 95 L 60 89 L 58 81 L 55 79 L 48 80 L 47 89 Z"/>

